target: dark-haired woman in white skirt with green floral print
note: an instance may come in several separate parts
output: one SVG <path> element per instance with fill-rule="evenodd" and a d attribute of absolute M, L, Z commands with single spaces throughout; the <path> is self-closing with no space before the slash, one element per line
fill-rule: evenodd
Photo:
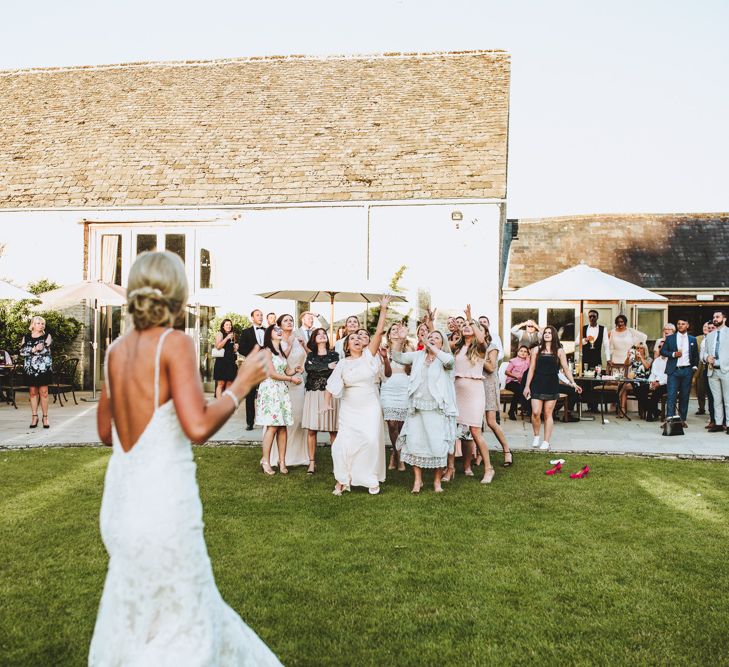
<path fill-rule="evenodd" d="M 256 395 L 256 424 L 263 426 L 263 458 L 261 470 L 267 475 L 275 475 L 271 467 L 271 447 L 276 438 L 279 454 L 279 472 L 288 474 L 286 461 L 286 427 L 294 423 L 291 413 L 291 397 L 286 384 L 300 384 L 301 377 L 288 372 L 288 364 L 281 351 L 283 330 L 277 324 L 266 329 L 263 336 L 263 347 L 271 350 L 269 375 L 258 386 Z"/>

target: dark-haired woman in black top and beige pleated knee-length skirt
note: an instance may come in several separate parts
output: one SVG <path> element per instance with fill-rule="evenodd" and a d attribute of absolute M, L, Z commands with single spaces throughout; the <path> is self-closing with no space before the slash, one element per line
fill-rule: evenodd
<path fill-rule="evenodd" d="M 301 427 L 309 431 L 309 468 L 306 472 L 313 475 L 316 471 L 316 434 L 319 431 L 329 431 L 330 444 L 337 437 L 339 401 L 332 399 L 333 409 L 325 411 L 324 392 L 327 380 L 339 361 L 339 354 L 329 345 L 326 329 L 312 331 L 308 346 L 310 352 L 304 362 L 306 393 Z"/>

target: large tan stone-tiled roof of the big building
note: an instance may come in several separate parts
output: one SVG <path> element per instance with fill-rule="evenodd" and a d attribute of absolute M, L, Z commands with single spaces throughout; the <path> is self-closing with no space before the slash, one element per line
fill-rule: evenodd
<path fill-rule="evenodd" d="M 0 208 L 504 198 L 509 55 L 0 72 Z"/>

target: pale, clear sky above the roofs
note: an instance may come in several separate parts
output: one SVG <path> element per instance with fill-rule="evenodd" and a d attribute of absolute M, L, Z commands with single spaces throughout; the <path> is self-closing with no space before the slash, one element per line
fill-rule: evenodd
<path fill-rule="evenodd" d="M 729 1 L 8 3 L 0 69 L 505 49 L 508 217 L 729 211 Z"/>

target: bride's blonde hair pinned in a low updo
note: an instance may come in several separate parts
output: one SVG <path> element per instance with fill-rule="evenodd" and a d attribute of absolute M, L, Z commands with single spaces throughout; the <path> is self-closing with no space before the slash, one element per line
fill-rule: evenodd
<path fill-rule="evenodd" d="M 129 272 L 127 308 L 134 328 L 169 327 L 187 301 L 182 260 L 171 252 L 143 252 Z"/>

